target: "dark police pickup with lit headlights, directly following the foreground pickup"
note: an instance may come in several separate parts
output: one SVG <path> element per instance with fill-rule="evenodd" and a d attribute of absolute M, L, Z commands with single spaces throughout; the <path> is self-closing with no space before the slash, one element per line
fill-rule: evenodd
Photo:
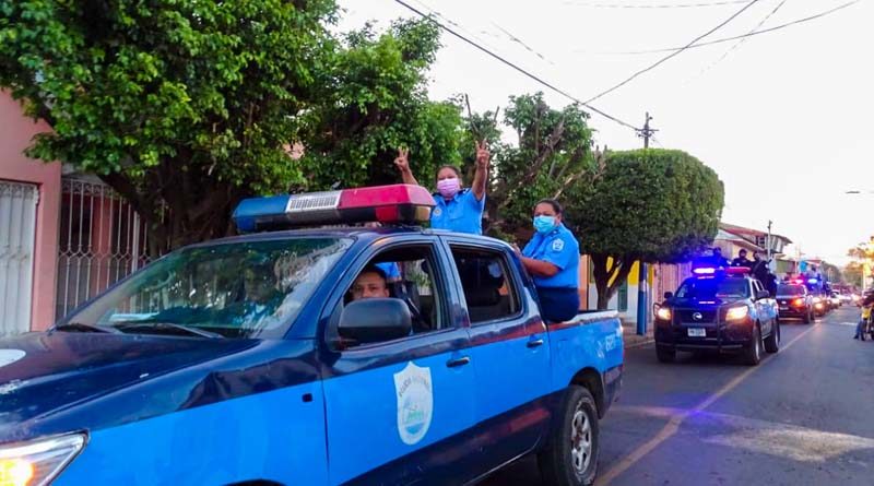
<path fill-rule="evenodd" d="M 747 268 L 701 266 L 656 309 L 656 353 L 672 363 L 676 352 L 741 353 L 758 365 L 763 347 L 780 348 L 777 301 Z"/>

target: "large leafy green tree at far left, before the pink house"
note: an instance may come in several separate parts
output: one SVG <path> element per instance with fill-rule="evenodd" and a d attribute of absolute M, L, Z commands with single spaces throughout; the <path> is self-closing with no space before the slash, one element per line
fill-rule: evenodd
<path fill-rule="evenodd" d="M 283 147 L 333 52 L 334 9 L 0 0 L 0 86 L 54 129 L 28 155 L 102 176 L 177 246 L 224 233 L 243 195 L 303 178 Z"/>

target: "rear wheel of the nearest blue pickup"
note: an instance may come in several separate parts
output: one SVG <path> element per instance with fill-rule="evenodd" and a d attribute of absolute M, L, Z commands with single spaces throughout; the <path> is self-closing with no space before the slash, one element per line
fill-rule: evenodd
<path fill-rule="evenodd" d="M 543 484 L 590 486 L 598 472 L 598 408 L 589 390 L 571 384 L 556 415 L 546 449 L 538 455 Z"/>

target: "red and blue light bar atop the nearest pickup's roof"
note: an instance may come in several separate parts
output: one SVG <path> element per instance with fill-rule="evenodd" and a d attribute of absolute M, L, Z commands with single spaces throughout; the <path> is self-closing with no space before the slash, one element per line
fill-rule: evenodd
<path fill-rule="evenodd" d="M 421 186 L 397 183 L 240 201 L 234 223 L 240 233 L 298 226 L 428 221 L 434 197 Z"/>

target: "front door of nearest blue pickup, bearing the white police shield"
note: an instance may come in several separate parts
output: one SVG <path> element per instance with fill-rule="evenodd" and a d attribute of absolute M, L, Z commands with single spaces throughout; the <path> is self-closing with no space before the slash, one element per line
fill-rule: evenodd
<path fill-rule="evenodd" d="M 468 330 L 450 318 L 449 264 L 434 239 L 377 245 L 385 250 L 363 257 L 338 283 L 339 294 L 365 268 L 391 268 L 397 276 L 389 280 L 399 280 L 391 297 L 408 301 L 418 318 L 410 336 L 347 347 L 332 327 L 354 297 L 329 303 L 323 388 L 331 484 L 463 483 L 456 478 L 463 478 L 465 461 L 477 459 L 464 436 L 474 425 L 475 375 Z"/>

